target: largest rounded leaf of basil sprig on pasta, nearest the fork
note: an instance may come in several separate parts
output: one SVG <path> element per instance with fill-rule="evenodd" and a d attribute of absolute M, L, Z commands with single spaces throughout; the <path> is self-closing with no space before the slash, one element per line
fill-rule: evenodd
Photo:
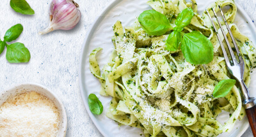
<path fill-rule="evenodd" d="M 191 64 L 208 64 L 213 59 L 213 46 L 206 36 L 198 31 L 183 35 L 182 53 Z"/>

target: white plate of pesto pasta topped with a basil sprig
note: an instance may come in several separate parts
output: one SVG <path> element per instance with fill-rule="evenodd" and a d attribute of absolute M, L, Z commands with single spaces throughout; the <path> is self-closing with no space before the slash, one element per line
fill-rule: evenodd
<path fill-rule="evenodd" d="M 231 79 L 216 36 L 220 26 L 215 32 L 205 12 L 213 16 L 218 5 L 246 62 L 244 82 L 256 89 L 256 29 L 234 0 L 113 1 L 86 36 L 79 72 L 84 105 L 100 133 L 241 136 L 246 131 L 239 86 L 221 97 L 213 94 L 222 80 Z M 99 97 L 100 115 L 90 112 L 89 94 Z"/>

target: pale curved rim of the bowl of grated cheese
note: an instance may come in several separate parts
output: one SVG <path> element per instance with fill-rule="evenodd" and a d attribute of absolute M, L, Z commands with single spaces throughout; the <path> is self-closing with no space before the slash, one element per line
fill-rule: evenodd
<path fill-rule="evenodd" d="M 59 105 L 56 105 L 56 103 L 54 103 L 54 105 L 58 108 L 60 115 L 62 116 L 62 117 L 60 117 L 60 122 L 61 122 L 61 120 L 62 120 L 62 122 L 60 123 L 61 126 L 58 129 L 58 136 L 65 137 L 66 133 L 67 133 L 67 113 L 66 113 L 65 107 L 64 107 L 61 99 L 54 92 L 52 92 L 51 89 L 45 87 L 44 85 L 40 85 L 38 83 L 33 83 L 33 82 L 18 83 L 18 84 L 8 87 L 7 89 L 0 91 L 0 98 L 5 96 L 6 94 L 8 94 L 9 91 L 15 90 L 15 89 L 17 89 L 17 87 L 22 87 L 22 86 L 39 87 L 39 89 L 43 89 L 43 90 L 38 90 L 38 91 L 45 93 L 45 94 L 43 94 L 43 96 L 46 96 L 47 98 L 49 98 L 53 103 L 56 102 L 59 104 Z M 37 92 L 37 91 L 35 90 L 35 92 Z M 9 97 L 12 97 L 12 96 L 9 96 Z M 9 97 L 6 97 L 6 99 L 4 99 L 3 102 L 5 102 Z M 54 100 L 51 98 L 54 98 Z"/>

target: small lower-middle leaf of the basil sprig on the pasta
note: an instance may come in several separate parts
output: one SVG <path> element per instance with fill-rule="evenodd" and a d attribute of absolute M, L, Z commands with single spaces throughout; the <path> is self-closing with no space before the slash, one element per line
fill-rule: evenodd
<path fill-rule="evenodd" d="M 182 41 L 181 32 L 173 31 L 166 40 L 166 49 L 169 51 L 176 51 L 180 47 L 180 43 Z"/>

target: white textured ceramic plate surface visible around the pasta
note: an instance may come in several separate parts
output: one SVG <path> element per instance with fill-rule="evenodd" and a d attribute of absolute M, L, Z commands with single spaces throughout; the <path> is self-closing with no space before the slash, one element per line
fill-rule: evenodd
<path fill-rule="evenodd" d="M 136 17 L 140 15 L 144 10 L 149 10 L 150 6 L 147 5 L 148 0 L 123 0 L 123 1 L 113 1 L 109 6 L 102 12 L 102 14 L 95 20 L 91 30 L 88 32 L 84 43 L 83 51 L 81 54 L 81 66 L 79 72 L 80 78 L 80 88 L 83 97 L 84 105 L 89 113 L 91 119 L 93 120 L 95 126 L 99 129 L 100 133 L 104 136 L 140 136 L 141 130 L 129 126 L 118 127 L 113 120 L 106 117 L 106 111 L 108 110 L 109 102 L 111 97 L 103 97 L 99 95 L 100 83 L 95 78 L 89 69 L 89 55 L 94 48 L 102 47 L 103 50 L 97 56 L 97 61 L 99 62 L 100 69 L 108 62 L 108 57 L 113 50 L 113 43 L 111 43 L 111 37 L 113 36 L 112 26 L 115 24 L 116 20 L 120 20 L 122 25 L 131 26 Z M 197 0 L 198 11 L 202 13 L 203 10 L 209 4 L 213 3 L 215 0 Z M 237 5 L 237 16 L 235 23 L 239 27 L 243 34 L 246 34 L 256 44 L 256 29 L 252 24 L 252 20 L 246 12 Z M 252 74 L 252 83 L 250 90 L 256 89 L 256 73 Z M 88 95 L 94 93 L 96 94 L 102 105 L 104 106 L 104 111 L 101 115 L 93 115 L 88 107 Z M 252 96 L 256 96 L 256 92 L 251 92 Z M 218 120 L 223 124 L 228 119 L 226 113 L 221 113 Z M 244 131 L 248 128 L 248 120 L 244 118 L 241 121 L 236 122 L 236 126 L 231 133 L 223 133 L 220 136 L 241 136 Z"/>

